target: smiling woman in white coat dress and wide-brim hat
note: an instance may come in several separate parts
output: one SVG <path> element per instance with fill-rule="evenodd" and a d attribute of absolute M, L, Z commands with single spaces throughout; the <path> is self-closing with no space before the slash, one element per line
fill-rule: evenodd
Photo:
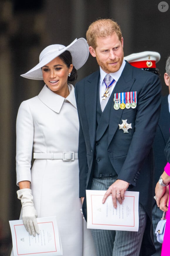
<path fill-rule="evenodd" d="M 84 38 L 69 46 L 47 46 L 26 74 L 44 80 L 38 96 L 21 103 L 16 122 L 16 173 L 21 217 L 30 235 L 39 234 L 36 217 L 56 216 L 63 256 L 96 255 L 80 212 L 78 134 L 74 87 L 77 70 L 89 55 Z M 32 149 L 34 163 L 31 169 Z"/>

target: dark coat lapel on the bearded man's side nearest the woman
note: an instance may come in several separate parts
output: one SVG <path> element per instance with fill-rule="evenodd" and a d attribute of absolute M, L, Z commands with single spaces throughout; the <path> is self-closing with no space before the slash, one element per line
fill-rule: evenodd
<path fill-rule="evenodd" d="M 94 149 L 96 141 L 97 89 L 99 79 L 100 72 L 97 71 L 87 80 L 84 88 L 85 109 L 89 124 L 89 136 L 92 149 Z"/>

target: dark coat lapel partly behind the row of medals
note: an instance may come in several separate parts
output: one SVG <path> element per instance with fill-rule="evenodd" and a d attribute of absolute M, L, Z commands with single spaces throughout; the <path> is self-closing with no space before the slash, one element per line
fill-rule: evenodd
<path fill-rule="evenodd" d="M 123 72 L 116 83 L 116 86 L 113 90 L 113 96 L 114 98 L 114 93 L 118 92 L 130 92 L 133 83 L 135 82 L 135 78 L 132 78 L 132 66 L 126 62 L 126 65 L 123 69 Z M 122 109 L 115 110 L 113 108 L 113 104 L 110 109 L 110 120 L 109 120 L 109 129 L 108 129 L 108 146 L 113 139 L 113 136 L 118 129 L 118 125 L 122 123 L 121 117 L 124 112 Z"/>

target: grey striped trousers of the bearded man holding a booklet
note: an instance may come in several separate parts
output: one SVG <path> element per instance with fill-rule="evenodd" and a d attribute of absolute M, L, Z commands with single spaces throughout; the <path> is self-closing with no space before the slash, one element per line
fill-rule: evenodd
<path fill-rule="evenodd" d="M 92 190 L 107 190 L 116 181 L 117 176 L 93 178 Z M 146 212 L 139 205 L 139 230 L 100 230 L 91 229 L 97 256 L 138 256 L 146 227 Z"/>

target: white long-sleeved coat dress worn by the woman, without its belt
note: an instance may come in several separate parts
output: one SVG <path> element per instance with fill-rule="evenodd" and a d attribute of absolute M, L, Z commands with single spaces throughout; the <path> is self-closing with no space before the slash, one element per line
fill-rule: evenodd
<path fill-rule="evenodd" d="M 35 159 L 36 153 L 78 152 L 79 121 L 74 87 L 66 99 L 46 85 L 21 103 L 16 122 L 17 184 L 31 182 L 38 217 L 56 216 L 63 256 L 95 256 L 90 230 L 80 212 L 78 159 Z M 84 226 L 84 227 L 83 227 Z"/>

